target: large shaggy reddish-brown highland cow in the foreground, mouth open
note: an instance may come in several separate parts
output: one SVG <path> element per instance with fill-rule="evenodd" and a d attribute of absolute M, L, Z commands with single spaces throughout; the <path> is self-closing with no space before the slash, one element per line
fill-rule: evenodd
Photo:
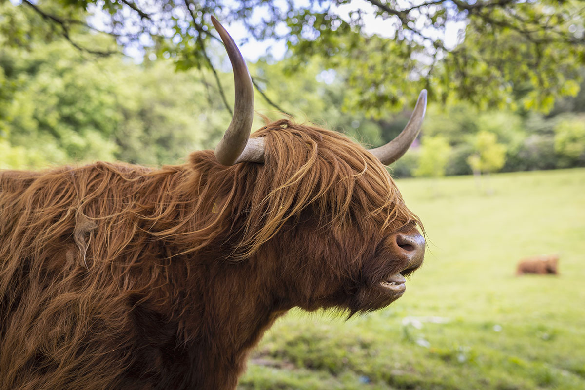
<path fill-rule="evenodd" d="M 422 264 L 384 164 L 417 136 L 425 91 L 373 150 L 290 120 L 249 138 L 250 76 L 213 21 L 236 81 L 215 153 L 0 173 L 0 389 L 233 389 L 288 309 L 383 308 Z"/>

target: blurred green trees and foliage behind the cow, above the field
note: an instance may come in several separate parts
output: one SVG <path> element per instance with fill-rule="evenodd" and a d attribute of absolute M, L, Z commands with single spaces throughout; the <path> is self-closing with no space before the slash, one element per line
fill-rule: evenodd
<path fill-rule="evenodd" d="M 267 51 L 250 64 L 256 108 L 272 119 L 287 113 L 377 146 L 427 88 L 424 127 L 391 168 L 397 177 L 585 166 L 581 2 L 364 4 L 394 34 L 369 32 L 362 10 L 340 11 L 346 2 L 2 0 L 0 167 L 156 165 L 213 147 L 233 81 L 209 13 L 287 44 L 283 59 Z M 453 45 L 441 32 L 462 20 Z M 140 63 L 121 54 L 129 47 Z"/>

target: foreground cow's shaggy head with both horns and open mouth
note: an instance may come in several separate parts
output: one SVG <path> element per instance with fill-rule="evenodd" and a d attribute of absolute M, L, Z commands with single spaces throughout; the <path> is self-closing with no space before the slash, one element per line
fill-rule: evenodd
<path fill-rule="evenodd" d="M 400 135 L 376 149 L 289 120 L 270 123 L 249 138 L 250 75 L 232 38 L 215 18 L 212 22 L 228 51 L 236 88 L 232 122 L 215 149 L 216 161 L 238 181 L 223 201 L 218 197 L 232 219 L 225 242 L 237 243 L 233 258 L 256 264 L 257 272 L 268 275 L 275 299 L 291 306 L 336 306 L 353 313 L 400 298 L 404 277 L 422 264 L 425 240 L 384 165 L 400 158 L 417 137 L 426 91 Z M 242 196 L 236 199 L 234 191 Z M 228 204 L 242 199 L 246 205 Z"/>

